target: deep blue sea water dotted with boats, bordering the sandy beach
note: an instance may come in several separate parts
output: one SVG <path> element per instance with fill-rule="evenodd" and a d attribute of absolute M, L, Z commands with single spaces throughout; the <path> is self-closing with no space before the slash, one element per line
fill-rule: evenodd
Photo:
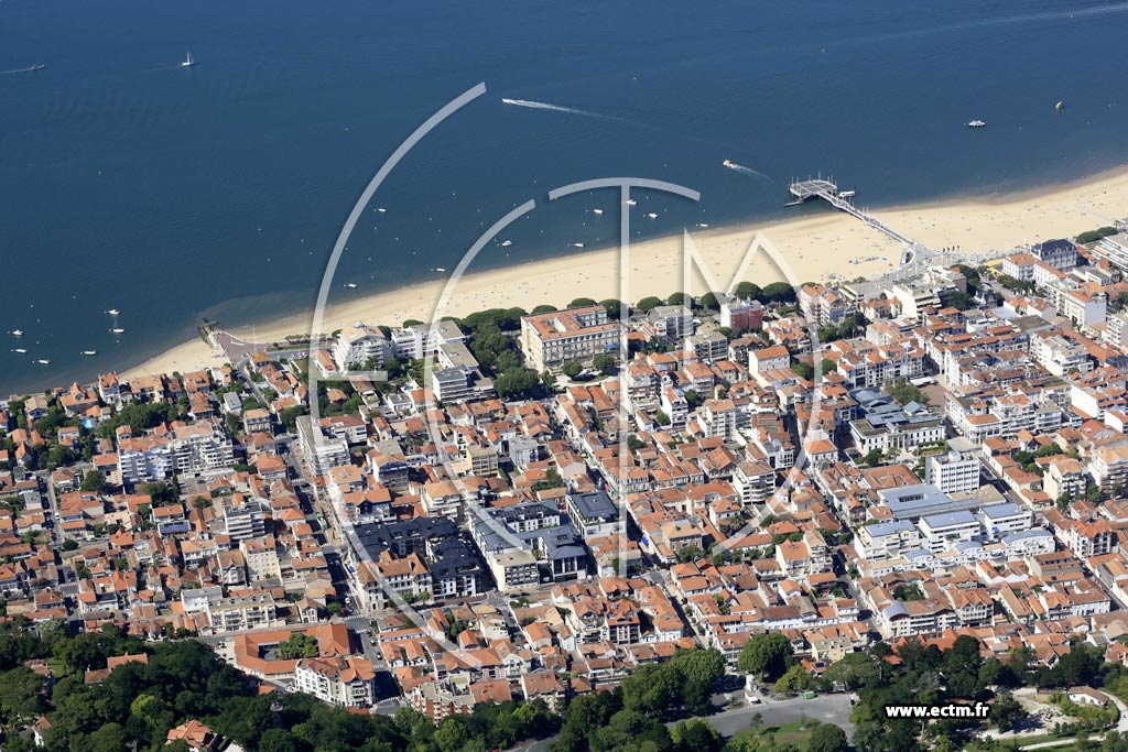
<path fill-rule="evenodd" d="M 140 362 L 202 317 L 311 307 L 372 174 L 478 81 L 373 200 L 333 300 L 437 277 L 514 205 L 592 177 L 702 191 L 641 196 L 658 235 L 778 216 L 820 170 L 880 206 L 1122 165 L 1126 32 L 1107 0 L 2 0 L 0 70 L 46 69 L 0 74 L 0 393 Z M 477 266 L 610 242 L 615 212 L 587 210 L 615 203 L 538 209 Z"/>

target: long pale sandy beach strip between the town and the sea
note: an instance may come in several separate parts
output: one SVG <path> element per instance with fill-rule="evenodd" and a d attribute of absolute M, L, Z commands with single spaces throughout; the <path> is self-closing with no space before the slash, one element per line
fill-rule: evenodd
<path fill-rule="evenodd" d="M 864 202 L 858 201 L 858 205 L 864 206 Z M 1043 191 L 889 207 L 872 213 L 889 227 L 933 248 L 1010 249 L 1072 237 L 1112 224 L 1114 218 L 1128 216 L 1128 169 Z M 896 265 L 900 255 L 898 244 L 891 239 L 855 218 L 829 209 L 792 221 L 687 229 L 722 290 L 758 233 L 778 249 L 792 269 L 794 282 L 875 276 Z M 437 315 L 465 316 L 487 308 L 518 306 L 529 310 L 541 303 L 563 307 L 579 297 L 622 298 L 632 302 L 646 295 L 666 297 L 682 289 L 682 245 L 680 235 L 632 245 L 629 274 L 622 286 L 617 248 L 479 273 L 472 266 L 451 285 L 451 295 L 441 311 L 435 309 L 447 280 L 329 306 L 321 329 L 328 333 L 356 321 L 398 326 L 408 318 L 431 320 Z M 870 257 L 873 260 L 852 263 Z M 785 280 L 764 254 L 757 256 L 743 277 L 760 285 Z M 700 295 L 707 289 L 699 274 L 691 277 L 689 292 Z M 275 342 L 289 334 L 308 334 L 311 318 L 310 311 L 259 324 L 254 335 L 258 342 Z M 231 333 L 247 340 L 252 337 L 250 328 Z M 221 361 L 222 356 L 195 338 L 129 369 L 124 375 L 192 371 Z"/>

